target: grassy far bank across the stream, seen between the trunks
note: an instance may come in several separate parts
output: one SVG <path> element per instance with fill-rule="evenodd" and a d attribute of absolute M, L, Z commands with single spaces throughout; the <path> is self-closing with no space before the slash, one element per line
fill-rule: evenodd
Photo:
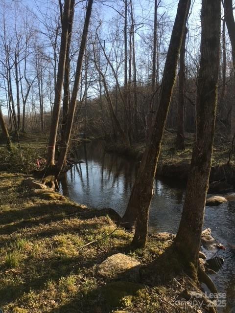
<path fill-rule="evenodd" d="M 176 134 L 164 132 L 164 139 L 161 147 L 161 154 L 158 162 L 157 175 L 169 179 L 187 180 L 191 161 L 193 134 L 185 134 L 185 150 L 175 148 Z M 105 146 L 106 151 L 115 152 L 122 156 L 141 161 L 144 153 L 146 141 L 135 143 L 129 147 L 121 143 L 108 143 Z M 226 181 L 226 183 L 235 184 L 235 157 L 231 154 L 230 164 L 229 151 L 231 142 L 225 141 L 221 136 L 215 137 L 211 176 L 210 181 Z M 231 186 L 218 186 L 213 192 L 232 191 Z"/>

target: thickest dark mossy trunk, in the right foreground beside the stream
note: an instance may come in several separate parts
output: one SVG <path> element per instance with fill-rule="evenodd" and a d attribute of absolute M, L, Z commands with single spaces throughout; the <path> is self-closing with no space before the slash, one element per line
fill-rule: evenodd
<path fill-rule="evenodd" d="M 196 136 L 186 198 L 175 247 L 187 264 L 198 268 L 206 195 L 211 171 L 220 63 L 220 0 L 203 0 L 201 60 L 197 81 Z"/>

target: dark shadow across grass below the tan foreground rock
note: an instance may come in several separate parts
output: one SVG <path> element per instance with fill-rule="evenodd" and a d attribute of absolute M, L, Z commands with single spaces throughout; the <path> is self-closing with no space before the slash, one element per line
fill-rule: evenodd
<path fill-rule="evenodd" d="M 126 252 L 127 250 L 130 251 L 131 247 L 126 247 Z M 52 309 L 49 313 L 110 313 L 115 310 L 128 310 L 128 308 L 125 308 L 126 302 L 123 299 L 128 296 L 140 297 L 139 305 L 143 309 L 145 303 L 142 301 L 144 301 L 144 294 L 148 292 L 147 287 L 161 288 L 167 285 L 170 286 L 172 285 L 172 279 L 177 274 L 182 274 L 181 266 L 176 260 L 174 249 L 169 247 L 153 263 L 140 268 L 139 280 L 129 281 L 128 274 L 130 270 L 126 270 L 116 279 L 106 280 L 106 285 L 99 285 L 85 294 L 77 293 L 70 302 L 61 305 L 59 308 Z M 159 305 L 161 307 L 162 302 Z M 156 304 L 157 306 L 158 304 Z"/>

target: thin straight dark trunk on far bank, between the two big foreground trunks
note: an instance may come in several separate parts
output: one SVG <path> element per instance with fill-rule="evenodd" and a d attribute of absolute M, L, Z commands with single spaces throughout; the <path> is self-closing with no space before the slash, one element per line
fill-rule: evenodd
<path fill-rule="evenodd" d="M 179 69 L 179 97 L 178 97 L 178 116 L 177 116 L 177 137 L 176 148 L 185 150 L 184 136 L 184 107 L 185 107 L 185 45 L 188 28 L 185 27 L 182 46 L 180 49 L 180 69 Z"/>

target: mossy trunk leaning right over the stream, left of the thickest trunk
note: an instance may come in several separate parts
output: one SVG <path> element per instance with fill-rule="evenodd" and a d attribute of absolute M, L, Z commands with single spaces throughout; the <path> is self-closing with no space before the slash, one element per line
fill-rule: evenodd
<path fill-rule="evenodd" d="M 153 196 L 154 177 L 172 90 L 175 83 L 178 56 L 188 17 L 189 6 L 190 0 L 179 0 L 165 61 L 159 109 L 126 210 L 126 215 L 137 213 L 136 231 L 132 242 L 133 245 L 137 247 L 145 246 L 147 241 L 148 215 Z"/>

